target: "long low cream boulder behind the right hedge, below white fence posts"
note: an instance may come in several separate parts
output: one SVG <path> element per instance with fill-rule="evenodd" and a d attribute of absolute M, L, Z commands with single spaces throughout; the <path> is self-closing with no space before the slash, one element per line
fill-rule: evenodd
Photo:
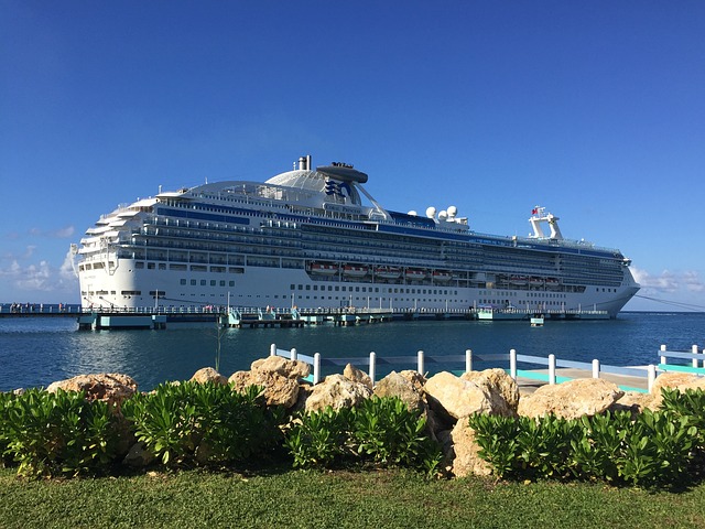
<path fill-rule="evenodd" d="M 616 384 L 601 378 L 579 378 L 541 386 L 532 395 L 521 397 L 518 412 L 522 417 L 539 418 L 553 413 L 576 419 L 606 411 L 623 395 Z"/>

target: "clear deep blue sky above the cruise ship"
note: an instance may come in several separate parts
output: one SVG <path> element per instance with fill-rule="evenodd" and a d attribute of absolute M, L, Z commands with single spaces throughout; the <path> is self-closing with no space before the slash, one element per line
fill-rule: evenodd
<path fill-rule="evenodd" d="M 0 302 L 118 204 L 354 163 L 384 207 L 616 247 L 705 310 L 705 2 L 0 0 Z M 673 304 L 676 303 L 676 304 Z"/>

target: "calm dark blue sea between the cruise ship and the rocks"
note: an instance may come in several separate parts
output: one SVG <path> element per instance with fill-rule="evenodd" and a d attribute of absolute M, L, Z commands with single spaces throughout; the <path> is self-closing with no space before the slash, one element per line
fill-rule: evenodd
<path fill-rule="evenodd" d="M 0 390 L 47 386 L 88 373 L 123 373 L 149 390 L 215 366 L 217 335 L 215 327 L 79 332 L 73 317 L 0 319 Z M 321 353 L 324 358 L 367 357 L 370 352 L 378 358 L 413 356 L 420 349 L 427 355 L 462 355 L 468 348 L 481 355 L 516 348 L 525 355 L 630 366 L 657 364 L 661 344 L 690 350 L 704 343 L 705 313 L 627 312 L 609 321 L 546 321 L 543 327 L 527 322 L 444 321 L 232 328 L 220 338 L 220 373 L 249 369 L 269 354 L 270 344 L 295 347 L 304 355 Z M 477 365 L 486 367 L 497 366 Z"/>

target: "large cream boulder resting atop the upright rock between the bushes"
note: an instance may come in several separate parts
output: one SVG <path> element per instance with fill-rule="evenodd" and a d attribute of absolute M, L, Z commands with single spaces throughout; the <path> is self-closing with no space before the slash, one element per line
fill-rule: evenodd
<path fill-rule="evenodd" d="M 494 391 L 491 386 L 480 387 L 447 371 L 431 377 L 424 390 L 429 406 L 442 415 L 445 412 L 455 420 L 473 413 L 513 414 L 502 395 Z"/>

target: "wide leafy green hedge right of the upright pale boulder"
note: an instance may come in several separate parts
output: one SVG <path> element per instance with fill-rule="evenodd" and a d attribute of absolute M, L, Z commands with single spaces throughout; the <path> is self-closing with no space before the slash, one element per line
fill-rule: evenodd
<path fill-rule="evenodd" d="M 476 414 L 469 425 L 479 455 L 499 477 L 603 479 L 644 487 L 682 483 L 702 446 L 702 395 L 663 411 L 606 412 L 579 420 L 554 415 L 510 419 Z M 698 444 L 701 443 L 701 444 Z"/>

